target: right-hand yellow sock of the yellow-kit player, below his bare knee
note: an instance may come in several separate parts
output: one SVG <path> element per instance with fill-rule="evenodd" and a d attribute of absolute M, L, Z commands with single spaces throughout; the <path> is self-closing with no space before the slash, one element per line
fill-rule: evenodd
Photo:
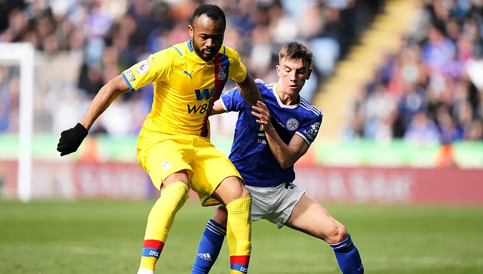
<path fill-rule="evenodd" d="M 226 240 L 230 251 L 230 274 L 248 272 L 252 250 L 251 208 L 251 195 L 226 205 L 226 211 L 228 211 Z"/>

